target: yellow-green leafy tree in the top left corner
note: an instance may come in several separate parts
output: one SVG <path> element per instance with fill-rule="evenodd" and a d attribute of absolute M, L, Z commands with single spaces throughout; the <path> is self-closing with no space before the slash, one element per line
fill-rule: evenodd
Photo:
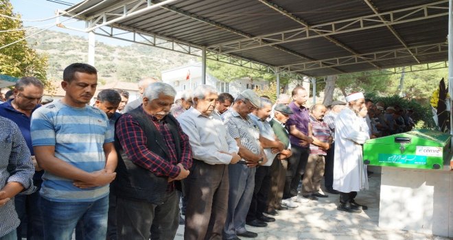
<path fill-rule="evenodd" d="M 0 14 L 20 19 L 19 14 L 12 12 L 12 4 L 8 0 L 0 0 Z M 20 20 L 0 18 L 0 31 L 21 28 L 23 28 L 23 24 Z M 22 38 L 25 38 L 24 30 L 2 32 L 0 34 L 0 47 Z M 34 76 L 47 84 L 46 70 L 47 56 L 36 53 L 34 49 L 27 46 L 25 40 L 0 49 L 0 74 L 13 77 Z"/>

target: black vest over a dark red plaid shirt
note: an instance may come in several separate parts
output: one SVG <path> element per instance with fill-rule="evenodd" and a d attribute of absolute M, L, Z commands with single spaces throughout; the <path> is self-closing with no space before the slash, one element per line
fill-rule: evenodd
<path fill-rule="evenodd" d="M 146 143 L 148 149 L 163 159 L 168 160 L 169 152 L 163 136 L 156 129 L 152 120 L 143 113 L 142 108 L 135 108 L 127 114 L 132 115 L 132 118 L 139 123 L 141 130 L 143 130 L 148 139 Z M 167 115 L 165 121 L 174 139 L 177 159 L 180 159 L 181 144 L 178 134 L 178 123 L 172 115 Z M 165 191 L 167 190 L 168 178 L 165 176 L 158 177 L 148 169 L 132 163 L 119 144 L 117 134 L 115 134 L 115 149 L 118 155 L 118 166 L 116 170 L 117 177 L 111 184 L 112 193 L 117 195 L 117 197 L 161 204 L 165 196 Z"/>

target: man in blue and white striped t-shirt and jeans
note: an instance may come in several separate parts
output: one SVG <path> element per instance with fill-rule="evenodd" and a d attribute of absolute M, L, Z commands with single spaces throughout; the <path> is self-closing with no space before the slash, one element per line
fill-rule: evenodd
<path fill-rule="evenodd" d="M 97 86 L 97 71 L 74 63 L 63 71 L 65 97 L 32 115 L 32 143 L 45 170 L 40 190 L 44 239 L 105 239 L 108 184 L 115 179 L 117 154 L 113 132 L 102 110 L 88 105 Z"/>

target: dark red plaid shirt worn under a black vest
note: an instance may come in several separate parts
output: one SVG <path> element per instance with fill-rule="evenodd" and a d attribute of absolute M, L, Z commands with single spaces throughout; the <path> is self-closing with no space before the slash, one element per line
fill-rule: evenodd
<path fill-rule="evenodd" d="M 189 169 L 192 165 L 189 137 L 183 132 L 181 126 L 178 125 L 179 138 L 181 139 L 181 159 L 178 159 L 174 139 L 165 118 L 162 121 L 158 121 L 154 116 L 148 115 L 145 111 L 143 113 L 148 116 L 150 121 L 154 123 L 156 129 L 162 134 L 170 159 L 163 159 L 148 149 L 145 132 L 140 128 L 139 123 L 128 114 L 119 118 L 115 128 L 115 134 L 119 139 L 121 148 L 124 149 L 126 156 L 132 160 L 132 163 L 148 169 L 156 176 L 176 178 L 181 172 L 181 169 L 176 166 L 178 163 L 181 163 L 185 169 Z M 173 189 L 174 182 L 170 182 L 169 189 L 167 190 L 171 191 Z"/>

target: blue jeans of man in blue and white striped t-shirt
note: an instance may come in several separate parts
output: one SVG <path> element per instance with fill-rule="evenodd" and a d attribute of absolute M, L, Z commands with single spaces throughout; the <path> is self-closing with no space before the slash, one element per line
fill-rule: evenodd
<path fill-rule="evenodd" d="M 75 226 L 75 239 L 106 239 L 108 196 L 94 202 L 53 202 L 41 197 L 40 206 L 46 240 L 71 240 Z"/>

